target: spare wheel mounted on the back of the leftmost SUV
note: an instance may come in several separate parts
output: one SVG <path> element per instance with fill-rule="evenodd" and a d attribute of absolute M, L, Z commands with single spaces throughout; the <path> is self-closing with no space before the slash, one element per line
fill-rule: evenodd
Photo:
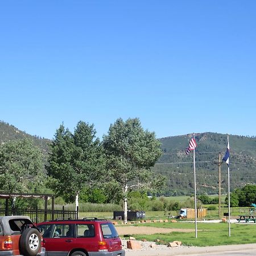
<path fill-rule="evenodd" d="M 19 240 L 20 253 L 26 256 L 36 256 L 41 245 L 41 235 L 37 229 L 28 228 L 22 232 Z"/>

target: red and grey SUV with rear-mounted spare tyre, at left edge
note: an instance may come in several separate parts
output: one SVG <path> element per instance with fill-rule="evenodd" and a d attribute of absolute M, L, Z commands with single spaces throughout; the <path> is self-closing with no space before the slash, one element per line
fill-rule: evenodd
<path fill-rule="evenodd" d="M 44 256 L 42 235 L 27 216 L 0 217 L 0 256 Z"/>

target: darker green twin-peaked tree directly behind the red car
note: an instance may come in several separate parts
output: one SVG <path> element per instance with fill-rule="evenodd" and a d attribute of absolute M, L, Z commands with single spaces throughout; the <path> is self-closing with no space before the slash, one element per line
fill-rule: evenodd
<path fill-rule="evenodd" d="M 76 202 L 84 188 L 102 179 L 104 155 L 93 125 L 79 121 L 74 133 L 60 125 L 49 146 L 49 187 L 67 203 Z"/>

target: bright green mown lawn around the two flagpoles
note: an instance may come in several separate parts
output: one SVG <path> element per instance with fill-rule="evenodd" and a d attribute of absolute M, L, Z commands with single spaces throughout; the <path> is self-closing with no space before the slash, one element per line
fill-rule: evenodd
<path fill-rule="evenodd" d="M 195 224 L 189 222 L 147 223 L 139 225 L 159 228 L 195 229 Z M 137 240 L 144 238 L 147 241 L 158 239 L 163 244 L 178 240 L 185 246 L 233 245 L 255 243 L 256 241 L 255 225 L 253 224 L 231 224 L 230 230 L 231 236 L 229 237 L 228 223 L 197 223 L 197 238 L 195 238 L 195 231 L 189 233 L 172 232 L 168 234 L 134 235 L 133 237 Z"/>

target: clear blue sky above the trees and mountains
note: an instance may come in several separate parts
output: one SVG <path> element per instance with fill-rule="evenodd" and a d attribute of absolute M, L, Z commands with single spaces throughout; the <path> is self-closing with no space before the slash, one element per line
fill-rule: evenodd
<path fill-rule="evenodd" d="M 1 1 L 2 121 L 52 139 L 138 117 L 157 138 L 256 135 L 256 1 Z"/>

